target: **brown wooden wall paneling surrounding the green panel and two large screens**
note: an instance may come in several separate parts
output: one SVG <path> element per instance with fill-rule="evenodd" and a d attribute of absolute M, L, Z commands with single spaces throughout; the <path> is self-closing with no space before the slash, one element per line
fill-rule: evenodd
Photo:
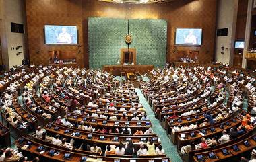
<path fill-rule="evenodd" d="M 79 44 L 82 45 L 81 51 L 77 52 L 77 64 L 80 67 L 88 67 L 88 17 L 166 19 L 168 21 L 167 61 L 176 60 L 174 48 L 199 51 L 199 63 L 210 63 L 214 55 L 216 0 L 184 0 L 139 5 L 96 0 L 26 0 L 26 15 L 30 62 L 37 65 L 48 63 L 49 50 L 77 50 L 77 46 L 46 46 L 44 44 L 44 25 L 58 24 L 77 26 Z M 175 47 L 176 28 L 203 28 L 202 46 Z M 37 51 L 39 51 L 38 54 Z"/>

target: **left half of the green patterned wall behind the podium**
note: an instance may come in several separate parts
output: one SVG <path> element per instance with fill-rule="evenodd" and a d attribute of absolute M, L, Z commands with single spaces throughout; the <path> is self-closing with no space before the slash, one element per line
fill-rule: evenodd
<path fill-rule="evenodd" d="M 127 48 L 124 36 L 127 20 L 108 18 L 88 19 L 89 67 L 115 65 L 120 60 L 120 49 Z"/>

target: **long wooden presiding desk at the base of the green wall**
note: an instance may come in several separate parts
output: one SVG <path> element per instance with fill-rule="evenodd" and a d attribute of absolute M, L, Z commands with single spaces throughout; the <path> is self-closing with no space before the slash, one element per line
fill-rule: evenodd
<path fill-rule="evenodd" d="M 147 73 L 148 70 L 152 71 L 154 65 L 103 65 L 102 68 L 103 71 L 112 71 L 113 75 L 120 75 L 120 72 L 125 71 L 125 69 L 134 69 L 143 75 Z"/>

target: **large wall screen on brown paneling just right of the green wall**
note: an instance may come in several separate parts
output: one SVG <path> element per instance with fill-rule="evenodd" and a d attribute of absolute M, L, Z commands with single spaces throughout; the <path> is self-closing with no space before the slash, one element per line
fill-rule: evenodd
<path fill-rule="evenodd" d="M 203 30 L 201 28 L 177 28 L 176 45 L 201 46 Z"/>

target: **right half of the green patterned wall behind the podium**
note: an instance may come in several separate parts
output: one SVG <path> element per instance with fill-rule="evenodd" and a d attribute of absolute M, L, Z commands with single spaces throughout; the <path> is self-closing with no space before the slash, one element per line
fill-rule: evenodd
<path fill-rule="evenodd" d="M 164 67 L 166 63 L 167 22 L 162 19 L 130 19 L 129 47 L 137 50 L 137 64 Z"/>

